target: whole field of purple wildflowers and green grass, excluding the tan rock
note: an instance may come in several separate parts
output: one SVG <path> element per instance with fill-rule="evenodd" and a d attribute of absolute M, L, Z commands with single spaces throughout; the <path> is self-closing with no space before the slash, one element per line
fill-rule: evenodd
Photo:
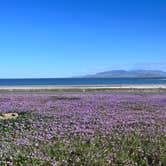
<path fill-rule="evenodd" d="M 166 165 L 166 95 L 0 94 L 0 165 Z"/>

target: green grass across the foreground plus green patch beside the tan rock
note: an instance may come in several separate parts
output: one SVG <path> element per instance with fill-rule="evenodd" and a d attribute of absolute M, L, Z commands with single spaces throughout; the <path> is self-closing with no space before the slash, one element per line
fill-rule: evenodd
<path fill-rule="evenodd" d="M 19 118 L 14 120 L 0 121 L 1 133 L 12 133 L 19 131 L 16 123 L 24 124 L 24 130 L 31 130 L 29 118 L 42 118 L 50 120 L 49 116 L 33 115 L 31 112 L 20 112 Z M 152 133 L 114 131 L 109 135 L 96 133 L 92 138 L 78 136 L 64 136 L 58 138 L 56 135 L 50 141 L 37 141 L 38 146 L 32 145 L 16 146 L 7 142 L 16 155 L 10 157 L 11 151 L 3 157 L 0 166 L 7 165 L 6 162 L 15 166 L 51 166 L 52 161 L 57 165 L 139 165 L 139 166 L 165 166 L 166 165 L 166 136 L 158 134 L 157 129 Z M 40 151 L 38 157 L 31 156 Z M 45 156 L 48 160 L 42 160 Z M 4 162 L 5 160 L 5 162 Z"/>

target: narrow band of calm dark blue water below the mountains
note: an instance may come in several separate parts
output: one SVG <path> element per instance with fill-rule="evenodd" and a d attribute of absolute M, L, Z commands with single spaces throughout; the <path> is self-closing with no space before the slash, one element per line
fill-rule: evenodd
<path fill-rule="evenodd" d="M 14 85 L 99 85 L 99 84 L 166 84 L 166 78 L 46 78 L 0 79 L 0 86 Z"/>

